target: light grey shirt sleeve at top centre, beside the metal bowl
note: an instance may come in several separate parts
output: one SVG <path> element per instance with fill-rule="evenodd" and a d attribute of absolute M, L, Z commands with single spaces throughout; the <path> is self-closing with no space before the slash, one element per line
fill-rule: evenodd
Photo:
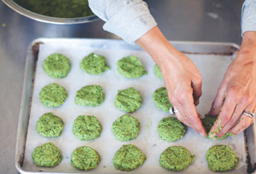
<path fill-rule="evenodd" d="M 156 26 L 143 0 L 89 0 L 94 14 L 106 21 L 103 29 L 133 44 Z"/>

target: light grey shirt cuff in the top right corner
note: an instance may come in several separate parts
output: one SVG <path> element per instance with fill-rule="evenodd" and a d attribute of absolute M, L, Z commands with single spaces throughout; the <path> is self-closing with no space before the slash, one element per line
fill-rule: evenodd
<path fill-rule="evenodd" d="M 256 0 L 246 0 L 241 9 L 241 36 L 244 32 L 256 32 Z"/>

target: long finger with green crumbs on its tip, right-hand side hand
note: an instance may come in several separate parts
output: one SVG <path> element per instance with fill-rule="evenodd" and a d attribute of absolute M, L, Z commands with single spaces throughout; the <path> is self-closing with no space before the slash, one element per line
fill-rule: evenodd
<path fill-rule="evenodd" d="M 216 136 L 224 128 L 224 126 L 230 121 L 232 114 L 236 108 L 236 103 L 237 103 L 236 100 L 239 100 L 237 98 L 234 99 L 234 97 L 236 96 L 232 95 L 232 92 L 229 92 L 227 94 L 222 110 L 218 115 L 218 119 L 215 121 L 209 133 L 209 136 L 211 138 Z"/>

